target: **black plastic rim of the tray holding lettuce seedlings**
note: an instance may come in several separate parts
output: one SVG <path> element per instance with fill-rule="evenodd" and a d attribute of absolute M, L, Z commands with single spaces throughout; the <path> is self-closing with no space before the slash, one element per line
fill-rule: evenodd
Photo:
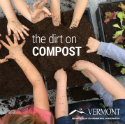
<path fill-rule="evenodd" d="M 109 4 L 109 3 L 118 3 L 118 2 L 125 2 L 125 1 L 124 0 L 117 0 L 115 2 L 104 2 L 104 3 L 98 4 L 98 8 L 96 10 L 96 18 L 97 18 L 97 24 L 98 24 L 99 36 L 100 36 L 99 39 L 102 42 L 106 42 L 106 39 L 105 39 L 105 33 L 104 33 L 104 28 L 103 28 L 103 20 L 102 20 L 102 17 L 101 17 L 100 5 Z M 107 57 L 104 57 L 104 64 L 105 64 L 106 71 L 109 74 L 112 75 L 111 68 L 110 68 L 110 62 L 109 62 L 109 59 Z M 123 76 L 123 75 L 121 74 L 121 75 L 118 75 L 118 76 Z"/>

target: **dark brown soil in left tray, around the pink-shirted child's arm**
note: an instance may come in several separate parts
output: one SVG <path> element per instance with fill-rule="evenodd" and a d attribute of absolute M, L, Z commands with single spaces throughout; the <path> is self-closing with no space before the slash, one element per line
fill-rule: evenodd
<path fill-rule="evenodd" d="M 19 16 L 18 18 L 25 26 L 31 29 L 29 31 L 30 37 L 26 37 L 26 44 L 23 47 L 23 52 L 37 69 L 39 69 L 38 58 L 32 55 L 32 49 L 36 46 L 36 44 L 33 44 L 32 42 L 32 35 L 35 34 L 34 27 L 22 16 Z M 0 39 L 7 42 L 5 39 L 5 35 L 7 35 L 7 20 L 0 19 L 0 25 L 0 33 L 2 34 Z M 12 36 L 11 39 L 13 40 Z M 21 42 L 22 41 L 19 41 L 19 43 Z M 8 54 L 8 50 L 5 47 L 2 47 L 0 50 L 0 58 L 4 58 Z M 32 85 L 16 62 L 14 60 L 9 60 L 4 64 L 0 64 L 0 98 L 27 93 L 32 93 Z"/>

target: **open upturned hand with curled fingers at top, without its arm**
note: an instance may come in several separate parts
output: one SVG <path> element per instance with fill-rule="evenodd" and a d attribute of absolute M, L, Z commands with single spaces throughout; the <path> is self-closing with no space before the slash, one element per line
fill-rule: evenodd
<path fill-rule="evenodd" d="M 52 16 L 51 12 L 46 7 L 44 7 L 46 3 L 47 0 L 44 0 L 43 2 L 40 2 L 40 0 L 38 0 L 33 4 L 33 11 L 29 6 L 27 6 L 27 9 L 31 15 L 32 23 L 40 22 L 44 18 Z"/>

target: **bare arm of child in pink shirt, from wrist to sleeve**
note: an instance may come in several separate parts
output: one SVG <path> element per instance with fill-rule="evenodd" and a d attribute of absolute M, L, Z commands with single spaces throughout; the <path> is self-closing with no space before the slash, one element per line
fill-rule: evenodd
<path fill-rule="evenodd" d="M 48 95 L 41 74 L 24 54 L 16 57 L 15 61 L 33 85 L 34 106 L 49 111 Z"/>

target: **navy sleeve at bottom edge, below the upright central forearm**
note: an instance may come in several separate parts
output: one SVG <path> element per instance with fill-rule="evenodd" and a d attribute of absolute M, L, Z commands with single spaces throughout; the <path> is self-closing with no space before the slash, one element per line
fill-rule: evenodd
<path fill-rule="evenodd" d="M 69 116 L 64 116 L 56 119 L 55 124 L 74 124 L 74 122 Z"/>

